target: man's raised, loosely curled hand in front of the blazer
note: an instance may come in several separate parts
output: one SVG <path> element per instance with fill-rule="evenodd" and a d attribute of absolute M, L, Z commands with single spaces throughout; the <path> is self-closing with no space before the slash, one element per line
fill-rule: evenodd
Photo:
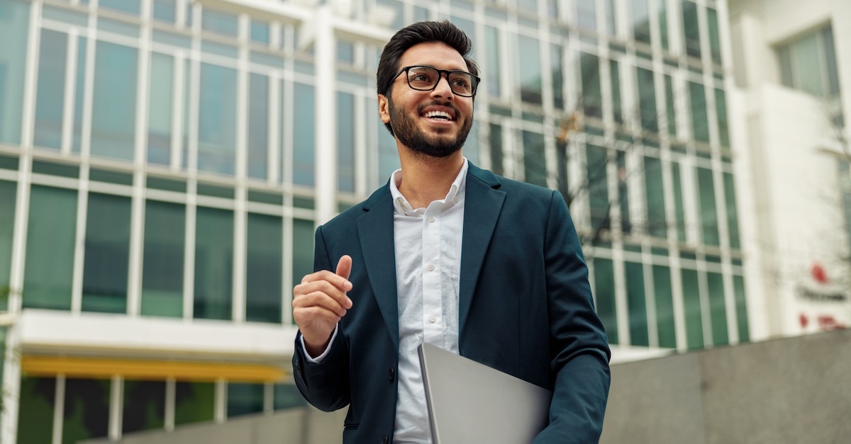
<path fill-rule="evenodd" d="M 340 318 L 351 309 L 349 274 L 351 256 L 345 255 L 337 264 L 337 272 L 317 271 L 301 279 L 293 288 L 293 318 L 305 339 L 307 354 L 322 354 Z"/>

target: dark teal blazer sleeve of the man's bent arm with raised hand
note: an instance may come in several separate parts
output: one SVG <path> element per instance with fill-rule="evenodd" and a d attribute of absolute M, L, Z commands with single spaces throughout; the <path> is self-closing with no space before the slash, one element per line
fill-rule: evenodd
<path fill-rule="evenodd" d="M 316 247 L 313 253 L 313 270 L 333 270 L 322 227 L 317 228 Z M 349 351 L 338 325 L 337 337 L 330 344 L 328 355 L 323 361 L 307 361 L 301 346 L 301 332 L 295 335 L 293 352 L 293 376 L 301 395 L 313 407 L 324 412 L 333 412 L 346 407 L 351 401 L 349 392 Z"/>

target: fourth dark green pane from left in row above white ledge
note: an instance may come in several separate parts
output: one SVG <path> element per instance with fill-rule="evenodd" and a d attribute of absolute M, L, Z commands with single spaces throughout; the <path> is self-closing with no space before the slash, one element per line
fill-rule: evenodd
<path fill-rule="evenodd" d="M 195 310 L 203 319 L 231 319 L 233 212 L 197 208 Z"/>

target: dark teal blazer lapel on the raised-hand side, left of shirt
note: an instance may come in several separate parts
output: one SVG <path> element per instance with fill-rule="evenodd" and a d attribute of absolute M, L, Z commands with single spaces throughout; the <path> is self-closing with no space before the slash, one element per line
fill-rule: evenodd
<path fill-rule="evenodd" d="M 399 350 L 399 309 L 396 287 L 396 253 L 393 247 L 393 200 L 385 185 L 364 202 L 366 213 L 357 218 L 357 235 L 369 283 L 381 316 Z"/>

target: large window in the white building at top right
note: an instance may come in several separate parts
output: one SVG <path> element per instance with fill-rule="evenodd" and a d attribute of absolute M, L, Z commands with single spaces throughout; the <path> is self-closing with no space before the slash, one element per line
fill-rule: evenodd
<path fill-rule="evenodd" d="M 837 54 L 830 25 L 777 48 L 780 81 L 819 97 L 839 95 Z"/>

